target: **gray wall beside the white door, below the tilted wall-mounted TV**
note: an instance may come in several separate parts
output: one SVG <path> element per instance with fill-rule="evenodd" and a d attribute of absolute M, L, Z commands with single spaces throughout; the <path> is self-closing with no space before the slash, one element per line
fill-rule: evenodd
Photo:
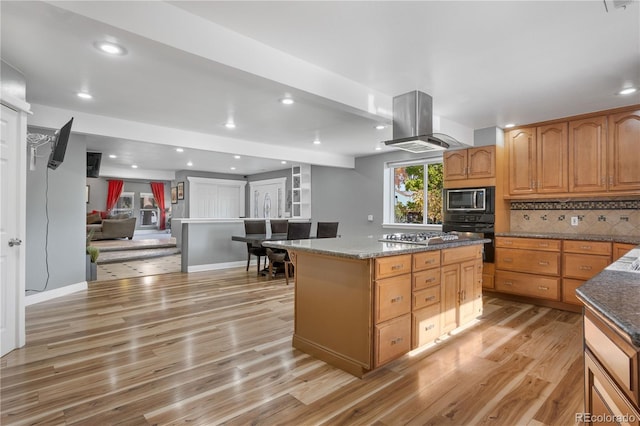
<path fill-rule="evenodd" d="M 38 149 L 36 170 L 30 171 L 27 164 L 27 290 L 45 290 L 45 285 L 52 290 L 85 281 L 86 151 L 84 136 L 72 133 L 64 161 L 56 170 L 47 168 L 49 144 Z"/>

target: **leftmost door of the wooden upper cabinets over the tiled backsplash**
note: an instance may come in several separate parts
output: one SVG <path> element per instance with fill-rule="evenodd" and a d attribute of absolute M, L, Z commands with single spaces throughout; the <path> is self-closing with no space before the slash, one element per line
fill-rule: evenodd
<path fill-rule="evenodd" d="M 534 128 L 512 130 L 507 136 L 509 194 L 533 194 L 536 179 L 536 134 Z"/>

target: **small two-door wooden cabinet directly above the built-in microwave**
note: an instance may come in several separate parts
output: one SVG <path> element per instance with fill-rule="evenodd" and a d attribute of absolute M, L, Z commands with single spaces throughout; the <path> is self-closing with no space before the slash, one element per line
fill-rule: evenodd
<path fill-rule="evenodd" d="M 445 151 L 442 163 L 447 187 L 495 185 L 495 181 L 488 182 L 496 177 L 496 147 L 493 145 Z"/>

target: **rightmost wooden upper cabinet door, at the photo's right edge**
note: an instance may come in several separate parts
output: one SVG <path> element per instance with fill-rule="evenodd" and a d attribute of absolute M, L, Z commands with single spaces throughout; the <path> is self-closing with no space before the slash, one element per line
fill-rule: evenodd
<path fill-rule="evenodd" d="M 640 110 L 609 116 L 609 191 L 640 190 Z"/>

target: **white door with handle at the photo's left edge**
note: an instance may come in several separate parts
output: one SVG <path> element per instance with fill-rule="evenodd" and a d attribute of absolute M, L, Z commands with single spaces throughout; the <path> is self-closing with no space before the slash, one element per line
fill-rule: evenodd
<path fill-rule="evenodd" d="M 19 114 L 2 105 L 0 115 L 0 356 L 20 346 L 20 311 L 18 292 L 20 259 L 23 248 L 20 245 L 20 208 L 18 161 L 22 158 Z M 26 165 L 25 165 L 26 167 Z M 17 179 L 18 178 L 18 179 Z"/>

